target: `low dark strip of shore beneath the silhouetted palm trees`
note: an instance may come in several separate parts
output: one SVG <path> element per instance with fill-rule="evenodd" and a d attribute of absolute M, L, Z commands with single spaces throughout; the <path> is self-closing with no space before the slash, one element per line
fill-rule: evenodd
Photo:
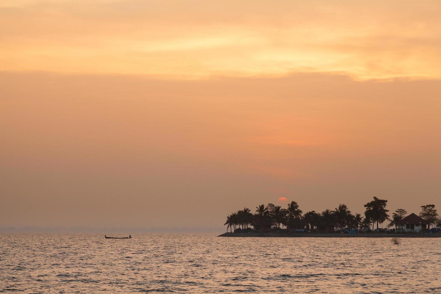
<path fill-rule="evenodd" d="M 265 234 L 265 233 L 224 233 L 217 237 L 281 237 L 281 238 L 441 238 L 441 234 L 384 234 L 384 233 L 370 233 L 370 234 Z"/>

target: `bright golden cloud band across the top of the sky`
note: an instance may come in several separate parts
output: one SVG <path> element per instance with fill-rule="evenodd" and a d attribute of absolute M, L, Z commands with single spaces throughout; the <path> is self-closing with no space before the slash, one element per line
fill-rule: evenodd
<path fill-rule="evenodd" d="M 8 71 L 441 78 L 439 1 L 6 0 Z"/>

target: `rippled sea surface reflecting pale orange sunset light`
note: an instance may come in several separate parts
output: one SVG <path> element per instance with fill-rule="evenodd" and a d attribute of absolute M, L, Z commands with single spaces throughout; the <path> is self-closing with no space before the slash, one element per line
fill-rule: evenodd
<path fill-rule="evenodd" d="M 0 292 L 441 293 L 441 238 L 0 234 Z"/>

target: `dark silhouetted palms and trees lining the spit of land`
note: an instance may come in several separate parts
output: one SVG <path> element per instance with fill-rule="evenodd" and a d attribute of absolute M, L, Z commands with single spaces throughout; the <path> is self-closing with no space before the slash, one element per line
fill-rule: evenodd
<path fill-rule="evenodd" d="M 386 209 L 387 200 L 374 199 L 364 205 L 365 212 L 351 213 L 345 204 L 340 204 L 334 209 L 325 209 L 322 212 L 314 210 L 303 213 L 295 201 L 291 201 L 287 208 L 269 203 L 268 205 L 258 205 L 255 212 L 249 208 L 243 208 L 227 216 L 227 225 L 230 232 L 237 228 L 247 229 L 250 226 L 258 231 L 278 231 L 286 227 L 288 231 L 293 229 L 310 229 L 318 232 L 330 232 L 335 227 L 350 229 L 372 229 L 379 223 L 389 220 L 388 227 L 395 226 L 396 222 L 403 219 L 407 212 L 404 209 L 397 209 L 389 218 L 389 210 Z M 435 205 L 423 205 L 420 217 L 428 220 L 430 224 L 441 227 L 441 218 L 437 218 Z M 249 230 L 249 229 L 248 229 Z"/>

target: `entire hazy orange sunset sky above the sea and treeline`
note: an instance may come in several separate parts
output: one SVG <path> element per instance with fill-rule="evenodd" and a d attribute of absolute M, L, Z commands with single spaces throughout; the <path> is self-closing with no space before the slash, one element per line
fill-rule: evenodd
<path fill-rule="evenodd" d="M 0 227 L 441 205 L 440 8 L 4 0 Z"/>

